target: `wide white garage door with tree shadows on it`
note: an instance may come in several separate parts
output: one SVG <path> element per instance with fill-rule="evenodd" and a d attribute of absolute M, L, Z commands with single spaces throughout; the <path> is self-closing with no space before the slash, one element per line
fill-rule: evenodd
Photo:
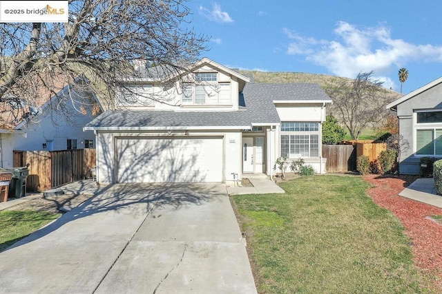
<path fill-rule="evenodd" d="M 117 138 L 117 182 L 222 182 L 222 137 Z"/>

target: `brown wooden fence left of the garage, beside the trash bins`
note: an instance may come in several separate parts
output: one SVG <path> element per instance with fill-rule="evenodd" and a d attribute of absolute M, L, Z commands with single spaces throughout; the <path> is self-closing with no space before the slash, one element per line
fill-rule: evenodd
<path fill-rule="evenodd" d="M 26 190 L 46 191 L 68 182 L 92 178 L 95 149 L 14 151 L 14 167 L 29 169 Z"/>

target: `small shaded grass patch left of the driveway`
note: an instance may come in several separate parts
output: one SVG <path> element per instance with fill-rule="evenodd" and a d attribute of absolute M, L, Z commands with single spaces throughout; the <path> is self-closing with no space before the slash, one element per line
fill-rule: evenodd
<path fill-rule="evenodd" d="M 59 216 L 45 211 L 0 211 L 0 252 Z"/>

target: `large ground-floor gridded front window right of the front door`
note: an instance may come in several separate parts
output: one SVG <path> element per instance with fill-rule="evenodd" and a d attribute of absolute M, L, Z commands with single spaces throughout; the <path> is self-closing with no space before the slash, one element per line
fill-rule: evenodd
<path fill-rule="evenodd" d="M 319 123 L 281 123 L 281 156 L 319 157 Z"/>

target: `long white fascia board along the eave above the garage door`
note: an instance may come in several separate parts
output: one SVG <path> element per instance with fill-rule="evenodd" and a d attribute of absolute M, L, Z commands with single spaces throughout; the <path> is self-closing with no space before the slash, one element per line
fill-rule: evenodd
<path fill-rule="evenodd" d="M 173 131 L 173 130 L 251 129 L 250 125 L 188 127 L 83 127 L 83 131 Z"/>

